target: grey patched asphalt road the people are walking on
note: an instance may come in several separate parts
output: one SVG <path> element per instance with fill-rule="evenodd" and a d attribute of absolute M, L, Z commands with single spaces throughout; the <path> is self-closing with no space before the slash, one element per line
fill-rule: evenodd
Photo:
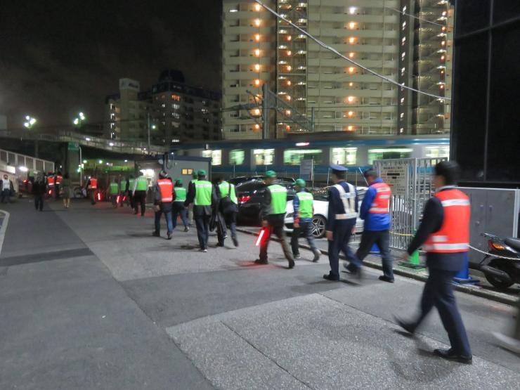
<path fill-rule="evenodd" d="M 490 331 L 514 310 L 457 293 L 473 365 L 435 358 L 433 313 L 415 339 L 422 282 L 367 269 L 327 282 L 311 253 L 287 270 L 280 245 L 256 266 L 252 235 L 207 254 L 192 230 L 152 238 L 152 213 L 59 203 L 10 213 L 0 253 L 0 389 L 517 389 L 520 358 Z M 163 223 L 164 226 L 164 223 Z M 164 235 L 163 231 L 163 235 Z"/>

